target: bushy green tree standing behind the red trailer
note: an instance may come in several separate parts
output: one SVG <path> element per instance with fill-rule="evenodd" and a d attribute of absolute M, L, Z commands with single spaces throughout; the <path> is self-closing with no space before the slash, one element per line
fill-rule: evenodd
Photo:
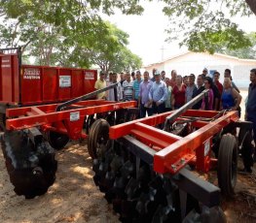
<path fill-rule="evenodd" d="M 23 57 L 29 54 L 39 65 L 98 65 L 106 72 L 141 66 L 141 59 L 127 48 L 128 34 L 100 18 L 90 23 L 77 20 L 76 27 L 65 28 L 41 17 L 19 16 L 12 22 L 6 18 L 0 26 L 0 43 L 12 48 L 23 45 Z"/>

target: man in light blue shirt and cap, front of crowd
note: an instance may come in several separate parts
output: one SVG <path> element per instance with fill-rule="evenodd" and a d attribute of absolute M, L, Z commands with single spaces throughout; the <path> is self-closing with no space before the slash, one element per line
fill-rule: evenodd
<path fill-rule="evenodd" d="M 155 80 L 149 91 L 150 105 L 152 105 L 153 113 L 165 112 L 165 101 L 167 99 L 167 88 L 160 73 L 156 71 Z"/>

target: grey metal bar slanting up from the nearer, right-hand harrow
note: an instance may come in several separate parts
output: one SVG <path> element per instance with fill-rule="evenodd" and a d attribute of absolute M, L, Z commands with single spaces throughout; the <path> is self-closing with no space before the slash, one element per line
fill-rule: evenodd
<path fill-rule="evenodd" d="M 207 95 L 208 89 L 205 89 L 199 94 L 197 97 L 193 98 L 191 101 L 186 103 L 184 106 L 176 110 L 175 112 L 171 113 L 170 115 L 165 117 L 165 126 L 164 130 L 167 130 L 168 123 L 170 123 L 172 120 L 176 119 L 178 116 L 180 116 L 182 113 L 186 112 L 187 110 L 191 109 L 194 105 L 196 105 L 201 99 Z"/>

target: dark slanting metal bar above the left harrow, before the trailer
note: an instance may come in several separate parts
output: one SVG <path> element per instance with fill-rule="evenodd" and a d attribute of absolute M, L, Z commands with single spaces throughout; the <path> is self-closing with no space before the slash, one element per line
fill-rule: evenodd
<path fill-rule="evenodd" d="M 106 87 L 102 88 L 102 89 L 95 90 L 95 91 L 92 91 L 91 93 L 88 93 L 88 94 L 82 95 L 82 96 L 80 96 L 80 97 L 71 99 L 71 100 L 69 100 L 69 101 L 67 101 L 67 102 L 64 102 L 64 103 L 58 105 L 58 106 L 56 107 L 56 110 L 55 110 L 55 111 L 56 111 L 56 112 L 59 112 L 59 111 L 61 111 L 61 109 L 63 109 L 64 107 L 70 106 L 70 105 L 72 105 L 72 104 L 74 104 L 74 103 L 78 103 L 78 102 L 84 101 L 84 100 L 86 100 L 86 99 L 89 99 L 89 98 L 91 98 L 92 96 L 95 96 L 95 95 L 97 95 L 97 94 L 99 94 L 99 93 L 102 93 L 102 92 L 104 92 L 104 91 L 107 91 L 107 90 L 109 90 L 109 89 L 111 89 L 111 88 L 114 88 L 114 87 L 117 86 L 118 84 L 119 84 L 119 82 L 115 82 L 115 83 L 113 83 L 113 84 L 111 84 L 111 85 L 109 85 L 109 86 L 106 86 Z"/>

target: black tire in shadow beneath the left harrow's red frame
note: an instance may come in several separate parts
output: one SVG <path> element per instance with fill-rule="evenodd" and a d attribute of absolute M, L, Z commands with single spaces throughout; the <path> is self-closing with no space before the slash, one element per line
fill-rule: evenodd
<path fill-rule="evenodd" d="M 56 150 L 60 150 L 69 142 L 69 137 L 64 134 L 60 134 L 54 131 L 47 133 L 47 139 L 50 145 Z"/>

